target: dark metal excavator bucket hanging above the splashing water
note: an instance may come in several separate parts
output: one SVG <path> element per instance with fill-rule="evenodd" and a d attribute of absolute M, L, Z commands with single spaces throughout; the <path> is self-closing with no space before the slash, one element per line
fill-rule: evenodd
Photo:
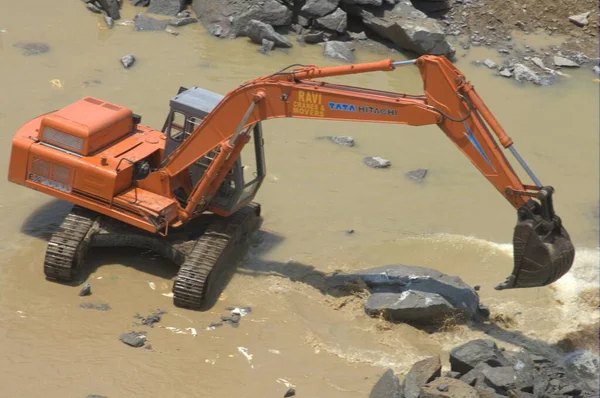
<path fill-rule="evenodd" d="M 559 217 L 520 209 L 513 235 L 514 268 L 496 290 L 541 287 L 556 282 L 571 269 L 575 248 Z"/>

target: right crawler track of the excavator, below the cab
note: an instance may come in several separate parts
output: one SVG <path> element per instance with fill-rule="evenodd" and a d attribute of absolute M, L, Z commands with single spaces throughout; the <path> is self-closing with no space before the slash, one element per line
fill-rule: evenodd
<path fill-rule="evenodd" d="M 215 266 L 256 228 L 259 216 L 260 205 L 251 203 L 230 217 L 216 217 L 211 222 L 179 269 L 173 284 L 176 306 L 189 309 L 202 306 L 211 283 L 223 271 L 223 266 Z"/>

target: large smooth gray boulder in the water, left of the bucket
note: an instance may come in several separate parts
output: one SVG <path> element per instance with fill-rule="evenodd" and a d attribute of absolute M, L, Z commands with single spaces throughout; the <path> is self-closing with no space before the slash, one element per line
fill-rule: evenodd
<path fill-rule="evenodd" d="M 404 295 L 403 300 L 410 297 L 410 300 L 417 302 L 420 298 L 423 305 L 429 304 L 432 307 L 432 316 L 458 312 L 467 318 L 480 319 L 479 296 L 475 289 L 459 277 L 449 276 L 431 268 L 386 265 L 352 274 L 335 274 L 328 278 L 328 284 L 331 287 L 341 287 L 355 280 L 362 280 L 369 287 L 373 293 L 371 297 L 377 294 L 373 301 L 388 301 L 394 298 L 398 301 Z M 399 302 L 396 306 L 402 308 L 402 303 Z M 442 312 L 444 306 L 448 312 Z M 421 308 L 421 311 L 424 310 Z M 423 320 L 423 317 L 421 319 Z"/>

